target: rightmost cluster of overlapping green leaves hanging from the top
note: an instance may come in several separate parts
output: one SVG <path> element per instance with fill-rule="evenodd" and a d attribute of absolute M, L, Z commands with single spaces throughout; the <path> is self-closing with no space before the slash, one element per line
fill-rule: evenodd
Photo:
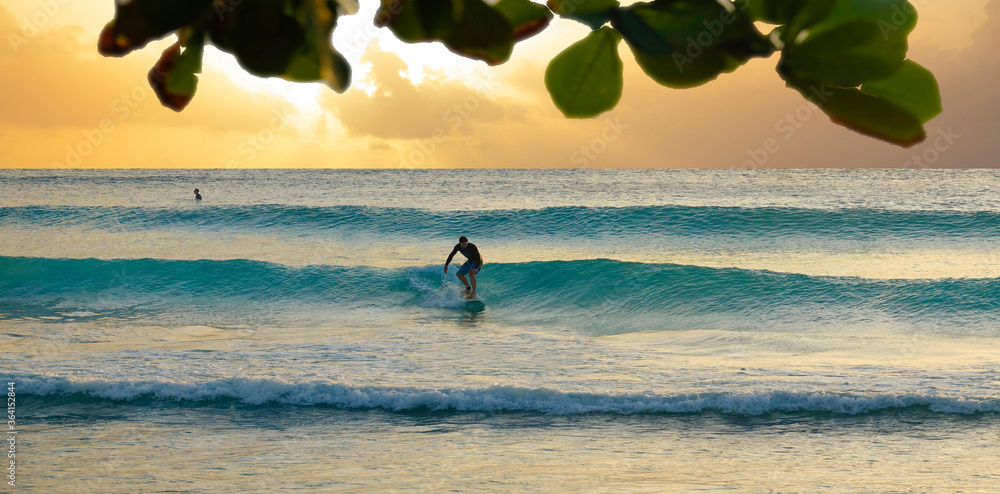
<path fill-rule="evenodd" d="M 807 98 L 833 86 L 819 104 L 834 122 L 912 146 L 941 111 L 933 75 L 904 63 L 916 22 L 906 0 L 813 0 L 785 30 L 778 72 Z"/>

